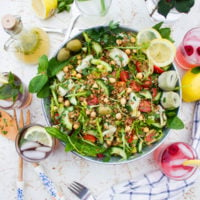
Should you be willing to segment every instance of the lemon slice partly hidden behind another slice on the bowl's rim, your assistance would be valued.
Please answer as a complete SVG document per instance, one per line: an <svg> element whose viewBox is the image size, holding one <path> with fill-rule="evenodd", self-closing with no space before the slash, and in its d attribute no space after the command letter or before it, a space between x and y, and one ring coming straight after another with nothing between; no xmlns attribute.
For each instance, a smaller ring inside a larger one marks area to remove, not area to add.
<svg viewBox="0 0 200 200"><path fill-rule="evenodd" d="M161 38L160 33L153 28L147 28L138 32L136 41L138 45L141 45L157 38Z"/></svg>

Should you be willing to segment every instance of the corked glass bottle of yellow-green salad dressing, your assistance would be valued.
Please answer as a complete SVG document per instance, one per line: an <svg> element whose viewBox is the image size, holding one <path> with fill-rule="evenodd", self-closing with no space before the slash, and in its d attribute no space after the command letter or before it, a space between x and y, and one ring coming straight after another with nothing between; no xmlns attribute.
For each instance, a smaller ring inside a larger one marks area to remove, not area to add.
<svg viewBox="0 0 200 200"><path fill-rule="evenodd" d="M21 18L15 15L5 15L2 18L2 26L11 36L4 49L13 51L19 60L36 64L39 57L48 55L49 37L42 29L24 29Z"/></svg>

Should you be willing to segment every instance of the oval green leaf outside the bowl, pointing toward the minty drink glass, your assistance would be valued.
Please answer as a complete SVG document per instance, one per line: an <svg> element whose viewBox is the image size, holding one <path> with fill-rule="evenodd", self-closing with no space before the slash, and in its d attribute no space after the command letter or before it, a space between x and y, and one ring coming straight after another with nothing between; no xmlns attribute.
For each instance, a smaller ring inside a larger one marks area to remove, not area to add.
<svg viewBox="0 0 200 200"><path fill-rule="evenodd" d="M48 81L46 74L40 74L35 76L29 83L29 92L38 93Z"/></svg>

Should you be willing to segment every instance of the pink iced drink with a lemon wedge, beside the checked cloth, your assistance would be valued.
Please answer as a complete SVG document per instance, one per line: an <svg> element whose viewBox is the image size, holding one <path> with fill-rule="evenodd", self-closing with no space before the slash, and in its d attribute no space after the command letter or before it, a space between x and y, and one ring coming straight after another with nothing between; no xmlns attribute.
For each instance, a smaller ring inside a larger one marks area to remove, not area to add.
<svg viewBox="0 0 200 200"><path fill-rule="evenodd" d="M154 159L162 172L175 180L187 179L195 172L195 167L183 165L185 160L195 158L196 152L184 142L161 146L154 152Z"/></svg>

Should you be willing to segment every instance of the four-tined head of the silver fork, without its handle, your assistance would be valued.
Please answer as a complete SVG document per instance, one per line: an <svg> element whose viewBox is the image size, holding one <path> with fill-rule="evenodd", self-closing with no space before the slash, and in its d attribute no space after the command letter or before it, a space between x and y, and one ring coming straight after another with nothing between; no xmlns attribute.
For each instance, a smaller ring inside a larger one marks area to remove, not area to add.
<svg viewBox="0 0 200 200"><path fill-rule="evenodd" d="M74 181L68 188L80 199L84 198L89 193L89 190L84 185L76 181Z"/></svg>

